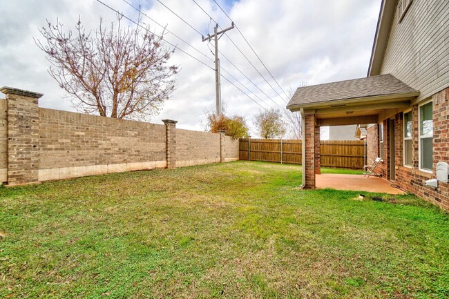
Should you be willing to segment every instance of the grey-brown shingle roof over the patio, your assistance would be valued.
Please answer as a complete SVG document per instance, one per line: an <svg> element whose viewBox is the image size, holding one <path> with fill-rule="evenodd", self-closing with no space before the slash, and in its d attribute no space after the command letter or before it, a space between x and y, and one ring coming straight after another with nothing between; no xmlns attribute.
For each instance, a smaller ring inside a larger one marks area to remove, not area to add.
<svg viewBox="0 0 449 299"><path fill-rule="evenodd" d="M332 102L342 99L418 93L390 74L300 87L287 107Z"/></svg>

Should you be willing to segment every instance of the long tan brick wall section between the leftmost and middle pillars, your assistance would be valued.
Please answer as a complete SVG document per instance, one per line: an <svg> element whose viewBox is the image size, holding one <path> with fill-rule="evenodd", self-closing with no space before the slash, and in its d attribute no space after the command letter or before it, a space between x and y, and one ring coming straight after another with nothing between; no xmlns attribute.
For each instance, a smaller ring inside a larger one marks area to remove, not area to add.
<svg viewBox="0 0 449 299"><path fill-rule="evenodd" d="M164 125L39 108L39 181L166 166Z"/></svg>

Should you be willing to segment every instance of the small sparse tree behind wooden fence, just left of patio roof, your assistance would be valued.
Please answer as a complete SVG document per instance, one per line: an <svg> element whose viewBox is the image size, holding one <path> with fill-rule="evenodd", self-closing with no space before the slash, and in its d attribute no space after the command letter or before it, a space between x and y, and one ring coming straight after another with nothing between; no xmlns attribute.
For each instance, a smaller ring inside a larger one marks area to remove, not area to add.
<svg viewBox="0 0 449 299"><path fill-rule="evenodd" d="M287 131L287 124L283 119L283 115L276 108L259 111L256 115L254 126L260 137L265 139L282 138Z"/></svg>

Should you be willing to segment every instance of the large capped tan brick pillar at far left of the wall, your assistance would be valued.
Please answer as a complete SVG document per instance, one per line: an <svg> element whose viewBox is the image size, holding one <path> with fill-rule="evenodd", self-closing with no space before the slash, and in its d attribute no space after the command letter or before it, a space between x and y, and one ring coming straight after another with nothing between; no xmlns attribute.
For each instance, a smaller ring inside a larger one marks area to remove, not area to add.
<svg viewBox="0 0 449 299"><path fill-rule="evenodd" d="M8 108L8 185L38 182L41 93L2 87Z"/></svg>

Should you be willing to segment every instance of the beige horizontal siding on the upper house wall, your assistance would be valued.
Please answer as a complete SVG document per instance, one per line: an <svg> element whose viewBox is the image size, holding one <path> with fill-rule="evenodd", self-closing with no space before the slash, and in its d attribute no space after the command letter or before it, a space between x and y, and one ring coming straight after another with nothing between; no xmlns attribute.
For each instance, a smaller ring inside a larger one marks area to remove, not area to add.
<svg viewBox="0 0 449 299"><path fill-rule="evenodd" d="M448 0L414 0L401 23L394 14L381 74L419 90L418 101L449 86L448 16Z"/></svg>

